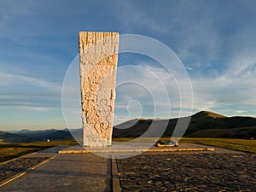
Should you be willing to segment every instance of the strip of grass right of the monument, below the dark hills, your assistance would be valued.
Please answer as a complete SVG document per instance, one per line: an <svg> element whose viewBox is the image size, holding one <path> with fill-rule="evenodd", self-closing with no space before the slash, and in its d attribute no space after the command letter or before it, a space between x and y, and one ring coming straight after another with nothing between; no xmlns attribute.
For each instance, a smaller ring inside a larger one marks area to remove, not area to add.
<svg viewBox="0 0 256 192"><path fill-rule="evenodd" d="M170 137L163 137L160 140L166 141ZM140 143L151 143L154 141L154 138L142 138L139 140ZM127 142L137 143L137 140L132 141L132 138L114 138L115 142ZM256 140L248 139L230 139L230 138L187 138L183 137L179 143L196 143L196 144L205 144L220 148L230 148L244 152L256 153Z"/></svg>

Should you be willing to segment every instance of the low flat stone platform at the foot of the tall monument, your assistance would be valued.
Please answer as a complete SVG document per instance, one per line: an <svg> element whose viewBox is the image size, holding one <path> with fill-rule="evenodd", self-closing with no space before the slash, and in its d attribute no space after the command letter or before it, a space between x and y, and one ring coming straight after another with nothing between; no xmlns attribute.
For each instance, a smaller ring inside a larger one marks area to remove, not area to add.
<svg viewBox="0 0 256 192"><path fill-rule="evenodd" d="M111 147L73 146L59 150L59 154L87 153L143 153L143 152L213 152L215 148L199 144L180 143L178 147L154 147L150 143L114 143Z"/></svg>

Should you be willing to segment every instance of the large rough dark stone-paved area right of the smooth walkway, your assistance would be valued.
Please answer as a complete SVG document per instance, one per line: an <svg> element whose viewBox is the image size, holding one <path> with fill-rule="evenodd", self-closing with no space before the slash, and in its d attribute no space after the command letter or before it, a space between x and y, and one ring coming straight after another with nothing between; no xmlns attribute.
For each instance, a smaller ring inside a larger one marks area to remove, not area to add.
<svg viewBox="0 0 256 192"><path fill-rule="evenodd" d="M122 191L256 190L256 154L142 154L117 165Z"/></svg>

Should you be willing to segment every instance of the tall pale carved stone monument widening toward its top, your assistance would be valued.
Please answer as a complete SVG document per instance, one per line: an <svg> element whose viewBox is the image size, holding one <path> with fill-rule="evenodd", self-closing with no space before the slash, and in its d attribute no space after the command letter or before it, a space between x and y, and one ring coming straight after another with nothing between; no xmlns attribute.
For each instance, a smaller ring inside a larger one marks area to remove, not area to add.
<svg viewBox="0 0 256 192"><path fill-rule="evenodd" d="M118 32L79 32L84 146L112 143Z"/></svg>

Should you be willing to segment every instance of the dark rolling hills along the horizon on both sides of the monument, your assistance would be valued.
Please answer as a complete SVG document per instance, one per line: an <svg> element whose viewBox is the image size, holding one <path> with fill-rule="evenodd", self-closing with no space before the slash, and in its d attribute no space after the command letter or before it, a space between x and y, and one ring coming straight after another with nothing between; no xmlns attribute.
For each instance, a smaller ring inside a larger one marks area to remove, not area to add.
<svg viewBox="0 0 256 192"><path fill-rule="evenodd" d="M181 119L186 119L183 117ZM131 119L113 127L113 137L171 137L178 119ZM83 130L0 131L1 143L22 143L50 140L82 139ZM173 136L175 137L175 135ZM256 138L256 118L226 117L218 113L201 111L191 116L183 137Z"/></svg>

